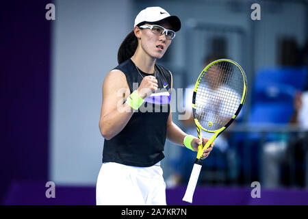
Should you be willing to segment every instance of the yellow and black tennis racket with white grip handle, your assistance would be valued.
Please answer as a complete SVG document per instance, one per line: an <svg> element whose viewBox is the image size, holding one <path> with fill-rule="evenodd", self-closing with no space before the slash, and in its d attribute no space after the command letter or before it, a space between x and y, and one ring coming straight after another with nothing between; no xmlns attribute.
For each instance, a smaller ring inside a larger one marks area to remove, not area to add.
<svg viewBox="0 0 308 219"><path fill-rule="evenodd" d="M233 60L216 60L207 65L199 75L192 96L192 114L198 138L203 142L201 129L214 133L198 152L183 201L192 203L200 175L203 151L231 125L240 113L246 97L246 75Z"/></svg>

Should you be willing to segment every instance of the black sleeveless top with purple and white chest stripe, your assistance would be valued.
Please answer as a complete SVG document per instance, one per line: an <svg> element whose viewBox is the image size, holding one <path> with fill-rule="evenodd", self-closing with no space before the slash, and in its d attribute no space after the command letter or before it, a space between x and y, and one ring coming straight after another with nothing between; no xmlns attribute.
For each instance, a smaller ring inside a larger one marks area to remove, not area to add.
<svg viewBox="0 0 308 219"><path fill-rule="evenodd" d="M125 74L131 93L138 89L142 77L149 75L140 69L138 73L131 59L114 69ZM158 81L157 91L144 99L144 103L133 113L120 133L111 140L105 139L103 162L146 167L153 166L164 158L167 120L170 112L171 73L166 68L155 64L155 77Z"/></svg>

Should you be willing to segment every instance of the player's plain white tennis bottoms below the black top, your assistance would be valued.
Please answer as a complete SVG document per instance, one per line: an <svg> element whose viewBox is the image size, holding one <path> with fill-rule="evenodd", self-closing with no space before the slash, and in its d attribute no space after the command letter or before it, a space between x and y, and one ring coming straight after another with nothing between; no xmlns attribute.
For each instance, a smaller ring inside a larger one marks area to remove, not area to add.
<svg viewBox="0 0 308 219"><path fill-rule="evenodd" d="M97 205L166 205L160 162L150 167L103 163L97 177Z"/></svg>

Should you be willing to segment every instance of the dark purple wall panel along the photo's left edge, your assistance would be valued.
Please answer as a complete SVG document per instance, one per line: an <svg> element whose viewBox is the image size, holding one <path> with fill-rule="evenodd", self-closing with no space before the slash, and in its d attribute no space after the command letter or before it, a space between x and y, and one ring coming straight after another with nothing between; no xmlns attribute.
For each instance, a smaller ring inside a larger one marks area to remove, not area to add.
<svg viewBox="0 0 308 219"><path fill-rule="evenodd" d="M1 3L0 200L14 181L47 181L51 1Z"/></svg>

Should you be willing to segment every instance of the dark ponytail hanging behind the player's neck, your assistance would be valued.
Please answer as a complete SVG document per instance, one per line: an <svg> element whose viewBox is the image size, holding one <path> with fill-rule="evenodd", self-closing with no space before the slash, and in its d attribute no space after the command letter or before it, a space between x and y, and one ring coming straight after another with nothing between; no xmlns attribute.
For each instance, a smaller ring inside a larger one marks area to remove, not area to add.
<svg viewBox="0 0 308 219"><path fill-rule="evenodd" d="M122 44L118 48L118 64L125 62L135 53L138 46L138 39L136 38L133 31L131 31Z"/></svg>

